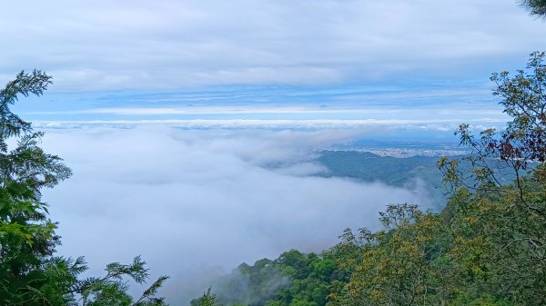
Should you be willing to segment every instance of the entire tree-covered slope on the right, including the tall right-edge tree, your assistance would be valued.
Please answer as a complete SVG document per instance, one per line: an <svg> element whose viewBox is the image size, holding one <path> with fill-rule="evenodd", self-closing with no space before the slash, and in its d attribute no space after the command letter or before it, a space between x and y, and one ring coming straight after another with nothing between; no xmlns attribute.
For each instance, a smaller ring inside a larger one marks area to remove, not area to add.
<svg viewBox="0 0 546 306"><path fill-rule="evenodd" d="M531 54L514 76L492 75L512 121L478 136L460 126L470 154L438 162L452 187L441 212L389 205L377 232L346 230L320 256L264 260L291 281L253 305L546 305L545 56ZM499 179L507 175L512 183Z"/></svg>

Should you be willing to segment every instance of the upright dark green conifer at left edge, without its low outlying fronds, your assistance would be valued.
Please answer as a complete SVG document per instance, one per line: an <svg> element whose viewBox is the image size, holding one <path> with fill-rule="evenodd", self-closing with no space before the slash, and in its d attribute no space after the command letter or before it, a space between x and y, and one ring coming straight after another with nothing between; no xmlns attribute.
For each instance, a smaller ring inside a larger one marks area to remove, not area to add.
<svg viewBox="0 0 546 306"><path fill-rule="evenodd" d="M22 72L0 91L0 301L11 304L57 300L49 294L51 286L40 291L53 276L48 273L51 268L60 266L58 259L45 262L58 237L40 190L71 173L59 157L37 146L42 133L35 133L10 110L18 94L40 95L48 84L51 77L42 72ZM15 148L10 149L8 142L13 140Z"/></svg>

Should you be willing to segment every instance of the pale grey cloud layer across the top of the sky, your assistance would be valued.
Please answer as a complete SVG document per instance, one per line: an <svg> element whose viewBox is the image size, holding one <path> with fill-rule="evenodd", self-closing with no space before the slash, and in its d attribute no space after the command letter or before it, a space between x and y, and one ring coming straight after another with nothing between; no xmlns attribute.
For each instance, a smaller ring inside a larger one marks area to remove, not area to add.
<svg viewBox="0 0 546 306"><path fill-rule="evenodd" d="M513 0L18 1L0 25L0 79L72 91L487 75L546 35Z"/></svg>

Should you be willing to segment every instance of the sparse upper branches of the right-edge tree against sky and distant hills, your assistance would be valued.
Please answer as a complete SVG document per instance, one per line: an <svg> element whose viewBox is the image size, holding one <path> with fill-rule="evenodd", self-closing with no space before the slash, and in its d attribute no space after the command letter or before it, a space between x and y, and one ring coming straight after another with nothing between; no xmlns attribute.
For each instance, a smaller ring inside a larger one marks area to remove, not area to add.
<svg viewBox="0 0 546 306"><path fill-rule="evenodd" d="M468 124L461 124L456 134L460 135L460 143L471 150L464 159L471 164L471 172L462 172L459 161L444 158L439 166L447 183L455 188L501 192L500 173L513 173L515 183L520 184L530 165L546 160L545 56L532 53L527 70L519 70L514 76L508 72L492 74L491 81L497 85L493 95L502 99L504 113L513 120L503 131L488 129L479 137L470 132ZM474 183L465 183L465 175Z"/></svg>

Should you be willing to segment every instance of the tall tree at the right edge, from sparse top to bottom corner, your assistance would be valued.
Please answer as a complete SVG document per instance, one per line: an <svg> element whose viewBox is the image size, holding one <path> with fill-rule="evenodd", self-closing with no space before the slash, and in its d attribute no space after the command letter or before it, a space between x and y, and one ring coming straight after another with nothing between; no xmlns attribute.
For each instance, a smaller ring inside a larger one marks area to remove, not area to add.
<svg viewBox="0 0 546 306"><path fill-rule="evenodd" d="M485 283L491 294L521 305L546 304L546 65L535 52L526 70L492 74L504 112L505 129L474 136L460 126L460 143L470 149L471 185L463 183L458 161L440 160L445 180L454 186L454 230L458 260ZM501 184L491 163L515 173Z"/></svg>

